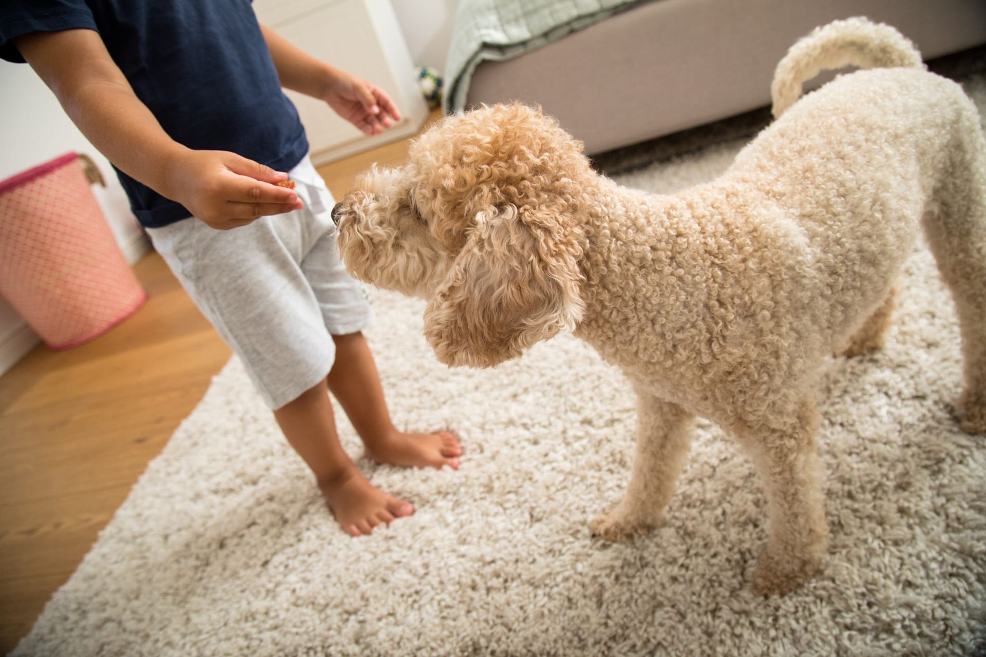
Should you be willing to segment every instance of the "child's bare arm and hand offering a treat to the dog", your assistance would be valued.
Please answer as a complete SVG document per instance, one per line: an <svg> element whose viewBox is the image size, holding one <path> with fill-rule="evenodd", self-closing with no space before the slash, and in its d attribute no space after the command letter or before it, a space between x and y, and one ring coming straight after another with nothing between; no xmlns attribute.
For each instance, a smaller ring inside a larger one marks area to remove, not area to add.
<svg viewBox="0 0 986 657"><path fill-rule="evenodd" d="M169 137L133 93L99 33L30 33L15 44L111 163L212 228L232 229L301 207L293 190L274 184L286 174L225 151L193 151Z"/></svg>

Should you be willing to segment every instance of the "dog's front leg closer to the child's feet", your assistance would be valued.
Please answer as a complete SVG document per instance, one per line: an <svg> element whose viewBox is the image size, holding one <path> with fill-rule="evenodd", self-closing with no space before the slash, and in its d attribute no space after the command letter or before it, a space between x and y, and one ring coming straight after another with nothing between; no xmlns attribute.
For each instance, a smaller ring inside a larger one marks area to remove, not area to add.
<svg viewBox="0 0 986 657"><path fill-rule="evenodd" d="M593 533L622 541L661 524L688 445L694 416L676 404L637 390L637 453L626 495L597 518Z"/></svg>

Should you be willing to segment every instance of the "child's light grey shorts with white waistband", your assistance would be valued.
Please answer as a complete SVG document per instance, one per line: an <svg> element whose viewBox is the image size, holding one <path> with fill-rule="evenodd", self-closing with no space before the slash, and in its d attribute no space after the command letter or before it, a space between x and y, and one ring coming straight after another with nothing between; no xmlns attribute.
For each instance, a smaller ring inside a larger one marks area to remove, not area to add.
<svg viewBox="0 0 986 657"><path fill-rule="evenodd" d="M233 230L192 218L147 230L272 409L325 377L332 335L362 331L372 318L366 291L335 246L331 193L308 158L290 177L301 210Z"/></svg>

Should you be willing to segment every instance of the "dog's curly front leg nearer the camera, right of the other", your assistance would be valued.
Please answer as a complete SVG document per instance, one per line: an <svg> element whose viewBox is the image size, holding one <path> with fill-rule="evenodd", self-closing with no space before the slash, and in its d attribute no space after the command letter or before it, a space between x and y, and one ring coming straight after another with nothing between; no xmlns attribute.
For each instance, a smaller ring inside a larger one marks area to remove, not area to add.
<svg viewBox="0 0 986 657"><path fill-rule="evenodd" d="M731 427L767 495L767 545L753 572L753 590L783 595L821 565L828 528L814 433L818 411L810 393L768 409L768 420Z"/></svg>

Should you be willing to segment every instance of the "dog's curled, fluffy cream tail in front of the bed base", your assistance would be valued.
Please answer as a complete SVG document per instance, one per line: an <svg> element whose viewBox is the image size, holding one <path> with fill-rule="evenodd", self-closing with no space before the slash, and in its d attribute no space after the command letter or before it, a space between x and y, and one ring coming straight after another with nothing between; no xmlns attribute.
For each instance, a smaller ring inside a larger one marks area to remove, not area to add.
<svg viewBox="0 0 986 657"><path fill-rule="evenodd" d="M925 68L921 53L903 34L865 18L834 21L799 39L774 71L774 118L802 95L802 86L825 69Z"/></svg>

